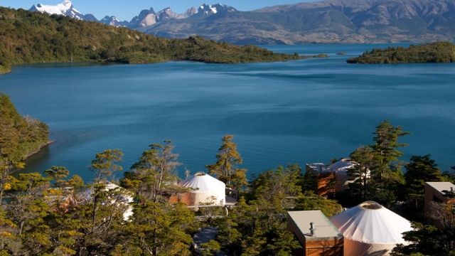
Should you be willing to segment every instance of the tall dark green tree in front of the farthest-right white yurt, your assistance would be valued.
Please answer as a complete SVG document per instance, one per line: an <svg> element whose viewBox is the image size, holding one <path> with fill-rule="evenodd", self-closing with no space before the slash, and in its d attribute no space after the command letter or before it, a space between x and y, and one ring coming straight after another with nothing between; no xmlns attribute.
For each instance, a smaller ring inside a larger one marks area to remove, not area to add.
<svg viewBox="0 0 455 256"><path fill-rule="evenodd" d="M398 139L410 132L403 132L401 126L395 127L390 124L390 120L385 120L376 127L373 134L375 144L361 146L350 154L350 158L358 164L348 170L353 183L348 191L338 195L343 203L349 201L349 206L351 203L371 200L390 207L397 201L400 188L405 182L401 171L402 162L398 161L398 157L404 153L397 148L407 146L398 143Z"/></svg>

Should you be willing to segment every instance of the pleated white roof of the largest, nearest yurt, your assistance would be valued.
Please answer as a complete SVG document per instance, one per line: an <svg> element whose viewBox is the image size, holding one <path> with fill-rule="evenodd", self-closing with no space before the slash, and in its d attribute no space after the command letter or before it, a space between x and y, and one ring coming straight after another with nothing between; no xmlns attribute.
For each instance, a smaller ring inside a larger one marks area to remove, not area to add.
<svg viewBox="0 0 455 256"><path fill-rule="evenodd" d="M365 243L406 244L402 233L412 230L409 220L373 201L360 203L330 220L346 239Z"/></svg>

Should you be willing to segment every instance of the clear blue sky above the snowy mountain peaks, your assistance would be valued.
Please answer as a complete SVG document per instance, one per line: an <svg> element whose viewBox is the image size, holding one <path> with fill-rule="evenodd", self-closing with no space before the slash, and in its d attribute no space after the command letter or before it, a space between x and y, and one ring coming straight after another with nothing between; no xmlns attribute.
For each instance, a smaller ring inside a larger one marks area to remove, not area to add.
<svg viewBox="0 0 455 256"><path fill-rule="evenodd" d="M200 4L226 4L239 11L252 11L261 9L265 6L275 6L278 4L296 4L309 0L167 0L167 1L144 1L144 0L70 0L77 11L82 14L93 14L97 19L104 16L116 16L120 20L130 21L137 16L143 9L153 7L155 11L161 11L166 7L171 7L172 11L183 14L186 9L200 6ZM30 9L33 4L57 5L63 0L0 0L0 6L11 7L14 9Z"/></svg>

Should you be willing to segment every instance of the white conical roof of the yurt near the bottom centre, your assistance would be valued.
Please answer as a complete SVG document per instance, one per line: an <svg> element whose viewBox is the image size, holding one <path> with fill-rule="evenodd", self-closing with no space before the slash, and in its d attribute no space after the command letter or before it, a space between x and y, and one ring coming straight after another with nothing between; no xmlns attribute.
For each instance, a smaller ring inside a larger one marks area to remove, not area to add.
<svg viewBox="0 0 455 256"><path fill-rule="evenodd" d="M205 172L200 171L193 176L186 178L186 180L178 183L178 186L184 186L186 188L194 188L195 192L204 192L204 191L218 191L222 189L223 191L226 188L223 181L218 181L218 179L213 178L212 176L205 174Z"/></svg>

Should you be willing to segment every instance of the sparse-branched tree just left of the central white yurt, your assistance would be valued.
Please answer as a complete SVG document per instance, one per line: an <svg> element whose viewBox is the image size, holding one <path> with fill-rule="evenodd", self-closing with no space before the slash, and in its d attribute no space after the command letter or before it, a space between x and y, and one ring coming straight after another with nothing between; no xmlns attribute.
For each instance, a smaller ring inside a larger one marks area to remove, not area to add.
<svg viewBox="0 0 455 256"><path fill-rule="evenodd" d="M158 202L162 201L164 190L177 190L173 183L178 180L175 170L181 163L177 161L178 154L172 152L171 141L164 145L151 144L150 149L142 153L139 161L131 167L133 172L125 173L122 184L134 188L139 195Z"/></svg>

